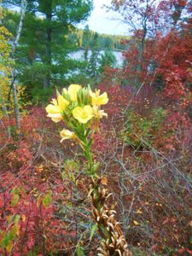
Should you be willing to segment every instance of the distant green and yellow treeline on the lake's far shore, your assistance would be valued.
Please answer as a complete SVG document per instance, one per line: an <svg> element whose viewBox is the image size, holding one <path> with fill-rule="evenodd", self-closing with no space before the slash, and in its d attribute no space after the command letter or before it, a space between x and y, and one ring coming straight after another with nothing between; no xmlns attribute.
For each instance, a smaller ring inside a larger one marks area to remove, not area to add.
<svg viewBox="0 0 192 256"><path fill-rule="evenodd" d="M125 44L121 44L122 41L129 39L122 35L108 35L99 34L91 31L89 26L85 26L84 29L73 28L68 33L68 41L71 44L76 44L81 49L116 49L124 50Z"/></svg>

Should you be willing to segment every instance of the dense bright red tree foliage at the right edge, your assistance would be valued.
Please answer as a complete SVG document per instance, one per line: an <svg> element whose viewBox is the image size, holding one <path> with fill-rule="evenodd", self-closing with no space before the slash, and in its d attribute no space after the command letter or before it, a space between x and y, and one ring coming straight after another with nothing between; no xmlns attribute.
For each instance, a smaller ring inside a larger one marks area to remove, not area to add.
<svg viewBox="0 0 192 256"><path fill-rule="evenodd" d="M180 26L181 31L174 30L165 37L158 38L154 62L157 67L156 74L162 79L161 83L164 85L166 97L182 102L182 105L184 102L183 108L185 108L189 104L186 98L190 97L189 87L192 84L192 19L187 19ZM165 51L166 54L162 57Z"/></svg>

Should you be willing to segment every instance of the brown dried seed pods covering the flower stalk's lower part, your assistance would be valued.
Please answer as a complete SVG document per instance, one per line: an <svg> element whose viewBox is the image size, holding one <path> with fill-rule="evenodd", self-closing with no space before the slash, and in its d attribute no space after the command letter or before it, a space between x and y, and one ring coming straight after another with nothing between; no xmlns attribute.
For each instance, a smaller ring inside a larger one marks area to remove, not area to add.
<svg viewBox="0 0 192 256"><path fill-rule="evenodd" d="M103 240L98 247L98 256L131 256L125 236L115 219L116 212L108 206L110 195L108 189L101 183L102 178L90 184L90 198L92 201L92 215Z"/></svg>

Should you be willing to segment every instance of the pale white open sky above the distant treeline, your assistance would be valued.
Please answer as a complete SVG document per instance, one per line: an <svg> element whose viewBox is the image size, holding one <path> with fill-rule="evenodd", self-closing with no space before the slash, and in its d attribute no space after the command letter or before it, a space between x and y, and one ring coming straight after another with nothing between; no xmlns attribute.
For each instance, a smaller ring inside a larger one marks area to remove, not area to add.
<svg viewBox="0 0 192 256"><path fill-rule="evenodd" d="M90 18L80 27L83 28L86 24L90 26L90 30L99 33L113 34L113 35L128 35L126 26L115 19L117 16L112 12L106 12L102 8L103 4L110 5L111 0L94 0L94 9L91 12Z"/></svg>

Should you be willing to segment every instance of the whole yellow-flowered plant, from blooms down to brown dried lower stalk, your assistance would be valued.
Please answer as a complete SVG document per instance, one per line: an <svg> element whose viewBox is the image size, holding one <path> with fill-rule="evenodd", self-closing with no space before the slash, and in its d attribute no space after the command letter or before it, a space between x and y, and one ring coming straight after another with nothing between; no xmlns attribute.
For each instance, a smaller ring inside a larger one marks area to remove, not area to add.
<svg viewBox="0 0 192 256"><path fill-rule="evenodd" d="M61 143L72 139L83 149L86 159L85 175L90 177L90 201L93 207L93 219L96 222L93 230L102 236L98 247L99 256L131 255L119 223L115 220L116 212L108 206L107 183L97 174L99 163L94 162L91 145L94 133L99 129L100 120L108 117L101 107L108 103L108 94L93 92L90 87L71 84L57 93L45 109L48 117L55 123L63 121L65 128L60 131ZM92 233L92 230L91 230Z"/></svg>

